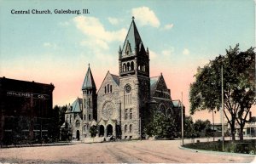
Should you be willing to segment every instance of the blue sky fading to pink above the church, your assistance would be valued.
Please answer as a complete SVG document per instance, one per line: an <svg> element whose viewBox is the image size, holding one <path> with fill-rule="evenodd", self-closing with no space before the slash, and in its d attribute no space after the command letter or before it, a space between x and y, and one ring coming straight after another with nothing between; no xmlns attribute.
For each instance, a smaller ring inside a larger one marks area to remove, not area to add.
<svg viewBox="0 0 256 164"><path fill-rule="evenodd" d="M55 14L61 9L89 14ZM27 10L30 14L12 14ZM149 49L150 76L163 74L172 99L183 93L188 116L189 84L197 68L237 43L241 51L255 47L253 0L0 0L0 76L52 82L54 105L72 104L81 97L89 63L97 89L108 71L119 74L119 46L132 16ZM202 111L193 118L212 121L212 114Z"/></svg>

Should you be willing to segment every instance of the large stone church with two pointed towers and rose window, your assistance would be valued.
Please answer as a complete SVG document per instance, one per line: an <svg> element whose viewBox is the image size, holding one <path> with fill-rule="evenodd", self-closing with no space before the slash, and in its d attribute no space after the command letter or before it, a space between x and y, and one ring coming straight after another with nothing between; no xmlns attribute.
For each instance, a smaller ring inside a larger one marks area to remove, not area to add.
<svg viewBox="0 0 256 164"><path fill-rule="evenodd" d="M119 75L108 71L97 91L89 65L82 93L83 97L69 105L65 114L73 139L91 137L92 126L97 127L98 137L140 139L145 136L142 132L150 110L181 119L181 103L172 100L164 76L149 76L148 48L143 45L134 18L123 47L119 47Z"/></svg>

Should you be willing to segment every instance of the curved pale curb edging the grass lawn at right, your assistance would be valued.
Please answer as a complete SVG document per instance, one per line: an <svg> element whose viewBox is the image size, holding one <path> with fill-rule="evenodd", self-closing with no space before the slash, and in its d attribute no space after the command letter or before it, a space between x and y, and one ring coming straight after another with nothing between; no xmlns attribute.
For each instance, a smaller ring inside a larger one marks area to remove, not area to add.
<svg viewBox="0 0 256 164"><path fill-rule="evenodd" d="M198 153L207 153L213 155L224 155L224 156L247 156L247 157L256 157L255 155L241 154L241 153L229 153L229 152L220 152L220 151L211 151L211 150L195 150L191 148L185 148L183 146L178 146L181 150L189 150Z"/></svg>

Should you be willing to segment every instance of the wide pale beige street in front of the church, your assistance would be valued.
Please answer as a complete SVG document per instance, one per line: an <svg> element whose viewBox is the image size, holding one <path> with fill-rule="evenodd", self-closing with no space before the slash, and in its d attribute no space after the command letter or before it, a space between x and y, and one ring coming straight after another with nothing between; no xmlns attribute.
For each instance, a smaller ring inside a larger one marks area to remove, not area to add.
<svg viewBox="0 0 256 164"><path fill-rule="evenodd" d="M253 156L230 156L179 148L179 140L127 141L0 149L0 162L49 163L247 163Z"/></svg>

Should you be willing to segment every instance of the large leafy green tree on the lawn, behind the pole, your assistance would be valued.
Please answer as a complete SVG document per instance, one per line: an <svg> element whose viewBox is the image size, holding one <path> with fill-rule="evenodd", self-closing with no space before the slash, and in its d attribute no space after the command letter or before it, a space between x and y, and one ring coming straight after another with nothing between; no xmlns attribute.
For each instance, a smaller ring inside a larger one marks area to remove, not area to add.
<svg viewBox="0 0 256 164"><path fill-rule="evenodd" d="M197 110L220 110L221 67L224 74L224 116L230 124L232 139L235 140L235 123L241 131L251 106L255 104L255 53L254 48L240 52L236 48L226 50L203 68L198 68L195 82L190 84L190 113ZM242 139L242 133L240 136Z"/></svg>

